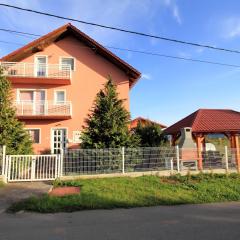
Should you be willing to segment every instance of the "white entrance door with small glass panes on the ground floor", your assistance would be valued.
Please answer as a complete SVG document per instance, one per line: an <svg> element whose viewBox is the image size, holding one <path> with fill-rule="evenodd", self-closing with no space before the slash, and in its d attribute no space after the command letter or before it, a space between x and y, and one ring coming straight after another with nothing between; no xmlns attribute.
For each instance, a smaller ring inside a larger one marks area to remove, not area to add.
<svg viewBox="0 0 240 240"><path fill-rule="evenodd" d="M59 154L67 146L67 130L55 128L52 130L52 153Z"/></svg>

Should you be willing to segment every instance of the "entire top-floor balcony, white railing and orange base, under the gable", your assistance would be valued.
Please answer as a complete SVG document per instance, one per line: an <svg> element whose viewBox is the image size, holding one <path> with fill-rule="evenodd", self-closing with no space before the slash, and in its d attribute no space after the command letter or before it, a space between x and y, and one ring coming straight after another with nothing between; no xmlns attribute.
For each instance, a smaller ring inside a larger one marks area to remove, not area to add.
<svg viewBox="0 0 240 240"><path fill-rule="evenodd" d="M12 83L71 84L72 70L68 64L0 62L0 66Z"/></svg>

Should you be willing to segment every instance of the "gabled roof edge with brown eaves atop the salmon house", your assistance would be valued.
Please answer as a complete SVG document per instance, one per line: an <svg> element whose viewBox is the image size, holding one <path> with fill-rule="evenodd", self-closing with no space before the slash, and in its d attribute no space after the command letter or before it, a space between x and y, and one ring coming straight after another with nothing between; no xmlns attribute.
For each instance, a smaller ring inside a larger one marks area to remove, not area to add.
<svg viewBox="0 0 240 240"><path fill-rule="evenodd" d="M141 73L129 65L127 62L116 56L114 53L103 47L100 43L89 37L87 34L80 31L78 28L73 26L71 23L63 25L60 28L30 42L29 44L11 52L10 54L0 58L0 61L17 62L25 57L33 54L34 52L41 51L46 46L50 45L54 41L62 39L67 34L74 35L77 39L89 46L93 51L106 58L122 71L124 71L130 78L130 87L132 87L137 80L141 77Z"/></svg>

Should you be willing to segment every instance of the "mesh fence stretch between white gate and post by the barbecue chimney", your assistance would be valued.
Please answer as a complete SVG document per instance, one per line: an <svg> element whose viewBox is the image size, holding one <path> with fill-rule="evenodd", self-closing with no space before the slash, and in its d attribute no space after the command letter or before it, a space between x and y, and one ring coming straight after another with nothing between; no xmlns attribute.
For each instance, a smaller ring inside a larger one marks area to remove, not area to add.
<svg viewBox="0 0 240 240"><path fill-rule="evenodd" d="M64 152L63 175L171 170L174 162L175 148L73 149Z"/></svg>

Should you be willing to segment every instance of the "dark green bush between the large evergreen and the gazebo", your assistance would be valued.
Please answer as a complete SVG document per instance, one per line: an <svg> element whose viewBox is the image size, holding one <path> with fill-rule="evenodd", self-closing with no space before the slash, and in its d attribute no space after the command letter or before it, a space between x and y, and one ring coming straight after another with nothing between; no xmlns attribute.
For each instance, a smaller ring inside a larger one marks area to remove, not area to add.
<svg viewBox="0 0 240 240"><path fill-rule="evenodd" d="M133 131L140 138L140 145L142 147L159 147L166 142L162 135L161 127L156 123L142 125L139 122Z"/></svg>

